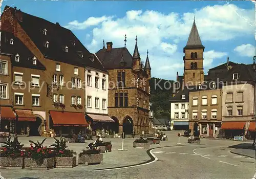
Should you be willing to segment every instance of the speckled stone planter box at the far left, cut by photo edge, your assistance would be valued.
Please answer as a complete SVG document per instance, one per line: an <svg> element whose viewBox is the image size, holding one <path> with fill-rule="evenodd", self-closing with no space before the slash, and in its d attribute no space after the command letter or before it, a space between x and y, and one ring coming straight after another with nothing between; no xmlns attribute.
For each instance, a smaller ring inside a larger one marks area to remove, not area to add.
<svg viewBox="0 0 256 179"><path fill-rule="evenodd" d="M24 158L0 158L0 168L4 169L22 169Z"/></svg>

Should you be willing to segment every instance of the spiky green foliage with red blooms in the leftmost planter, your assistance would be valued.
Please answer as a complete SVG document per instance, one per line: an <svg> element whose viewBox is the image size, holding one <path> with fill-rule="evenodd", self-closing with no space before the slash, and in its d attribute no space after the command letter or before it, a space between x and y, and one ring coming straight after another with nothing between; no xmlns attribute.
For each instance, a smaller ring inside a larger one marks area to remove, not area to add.
<svg viewBox="0 0 256 179"><path fill-rule="evenodd" d="M22 151L23 144L20 145L20 142L18 142L18 137L15 137L13 141L11 141L11 137L9 136L5 142L1 142L5 144L4 150L1 151L2 157L11 157L11 158L17 158L17 157L23 157L24 151Z"/></svg>

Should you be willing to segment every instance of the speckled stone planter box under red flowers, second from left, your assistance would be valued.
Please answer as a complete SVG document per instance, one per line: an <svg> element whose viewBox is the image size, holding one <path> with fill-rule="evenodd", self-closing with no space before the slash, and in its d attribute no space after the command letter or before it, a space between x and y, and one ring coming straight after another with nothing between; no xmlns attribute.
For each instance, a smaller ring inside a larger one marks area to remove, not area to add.
<svg viewBox="0 0 256 179"><path fill-rule="evenodd" d="M31 158L24 159L24 166L27 169L49 170L54 168L54 165L55 165L55 158L44 159L44 161L40 165L37 165L34 159L31 159Z"/></svg>

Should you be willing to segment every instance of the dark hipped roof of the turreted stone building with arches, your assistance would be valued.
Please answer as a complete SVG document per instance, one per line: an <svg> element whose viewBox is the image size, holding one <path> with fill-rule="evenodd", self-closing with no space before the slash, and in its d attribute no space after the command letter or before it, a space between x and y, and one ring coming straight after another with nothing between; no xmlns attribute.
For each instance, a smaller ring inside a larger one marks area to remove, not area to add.
<svg viewBox="0 0 256 179"><path fill-rule="evenodd" d="M133 59L130 52L123 48L112 48L110 51L106 49L100 49L96 55L103 64L105 69L122 69L122 68L132 68ZM124 66L121 66L121 61L124 61Z"/></svg>

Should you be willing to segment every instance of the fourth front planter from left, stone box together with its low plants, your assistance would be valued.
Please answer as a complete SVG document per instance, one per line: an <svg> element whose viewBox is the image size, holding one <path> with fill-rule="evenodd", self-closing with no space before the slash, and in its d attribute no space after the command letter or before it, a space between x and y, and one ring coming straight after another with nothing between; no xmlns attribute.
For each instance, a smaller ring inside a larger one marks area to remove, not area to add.
<svg viewBox="0 0 256 179"><path fill-rule="evenodd" d="M78 164L103 164L103 154L99 150L83 150L79 153Z"/></svg>

